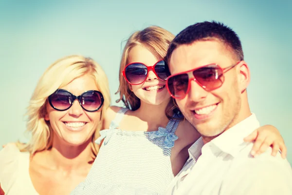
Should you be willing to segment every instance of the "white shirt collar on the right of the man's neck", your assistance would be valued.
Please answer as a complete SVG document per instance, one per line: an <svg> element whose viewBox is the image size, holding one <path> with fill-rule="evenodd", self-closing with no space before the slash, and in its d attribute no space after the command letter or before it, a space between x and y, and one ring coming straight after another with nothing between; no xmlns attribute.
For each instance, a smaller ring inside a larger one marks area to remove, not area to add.
<svg viewBox="0 0 292 195"><path fill-rule="evenodd" d="M243 138L247 137L258 127L260 127L260 125L256 115L252 114L218 137L212 139L209 144L213 144L222 152L235 157L238 152L248 144L243 141Z"/></svg>

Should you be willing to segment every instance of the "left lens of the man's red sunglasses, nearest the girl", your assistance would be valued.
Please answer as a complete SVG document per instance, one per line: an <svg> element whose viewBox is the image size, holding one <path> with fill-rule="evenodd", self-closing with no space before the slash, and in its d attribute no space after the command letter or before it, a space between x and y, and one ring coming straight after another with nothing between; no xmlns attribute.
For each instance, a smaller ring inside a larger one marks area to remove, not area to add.
<svg viewBox="0 0 292 195"><path fill-rule="evenodd" d="M188 75L181 74L168 78L167 86L174 98L183 98L188 87Z"/></svg>

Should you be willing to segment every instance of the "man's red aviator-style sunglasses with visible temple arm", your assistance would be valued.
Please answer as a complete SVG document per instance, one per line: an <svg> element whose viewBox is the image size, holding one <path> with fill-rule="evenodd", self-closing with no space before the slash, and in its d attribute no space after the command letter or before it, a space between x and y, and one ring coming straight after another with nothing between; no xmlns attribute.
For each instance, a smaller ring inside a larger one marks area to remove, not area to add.
<svg viewBox="0 0 292 195"><path fill-rule="evenodd" d="M189 93L192 80L196 81L206 90L217 89L221 87L224 82L223 74L228 70L231 70L237 64L226 68L221 68L218 64L208 64L189 71L171 75L166 80L167 91L172 98L185 98Z"/></svg>

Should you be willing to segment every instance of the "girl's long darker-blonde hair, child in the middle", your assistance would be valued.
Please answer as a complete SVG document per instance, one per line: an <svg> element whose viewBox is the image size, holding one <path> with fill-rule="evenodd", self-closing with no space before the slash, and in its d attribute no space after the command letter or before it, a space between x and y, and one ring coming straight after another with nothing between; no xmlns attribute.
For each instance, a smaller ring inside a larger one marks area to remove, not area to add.
<svg viewBox="0 0 292 195"><path fill-rule="evenodd" d="M140 99L129 89L128 83L122 75L125 66L128 64L128 54L130 49L136 45L142 44L143 46L146 46L156 58L164 59L172 39L174 39L174 35L159 26L150 26L141 31L136 31L129 37L124 47L120 63L120 86L116 92L116 94L120 94L120 98L116 100L117 103L122 100L126 107L133 111L137 110L141 104ZM171 118L173 112L178 111L178 108L175 106L174 101L171 98L165 110L166 116Z"/></svg>

